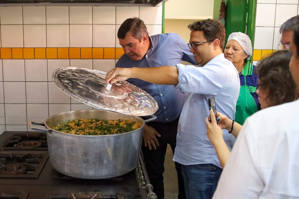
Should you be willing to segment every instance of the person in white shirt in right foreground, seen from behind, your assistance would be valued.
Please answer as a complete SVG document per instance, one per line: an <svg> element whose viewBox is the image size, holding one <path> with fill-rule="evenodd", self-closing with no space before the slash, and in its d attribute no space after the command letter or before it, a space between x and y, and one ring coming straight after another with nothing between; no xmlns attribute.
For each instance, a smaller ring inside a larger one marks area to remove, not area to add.
<svg viewBox="0 0 299 199"><path fill-rule="evenodd" d="M299 88L299 23L289 69ZM214 199L299 198L299 100L248 117L223 169Z"/></svg>

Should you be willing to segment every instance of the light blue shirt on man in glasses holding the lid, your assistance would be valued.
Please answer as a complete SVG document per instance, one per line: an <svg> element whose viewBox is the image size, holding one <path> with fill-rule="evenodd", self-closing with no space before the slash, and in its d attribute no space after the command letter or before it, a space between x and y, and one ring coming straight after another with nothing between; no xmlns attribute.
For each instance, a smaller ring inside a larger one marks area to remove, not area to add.
<svg viewBox="0 0 299 199"><path fill-rule="evenodd" d="M203 67L177 64L181 92L187 93L181 112L173 160L183 165L212 163L221 168L215 148L208 139L205 118L210 114L208 98L214 96L216 109L234 119L240 80L234 65L223 53ZM223 130L229 150L236 138Z"/></svg>

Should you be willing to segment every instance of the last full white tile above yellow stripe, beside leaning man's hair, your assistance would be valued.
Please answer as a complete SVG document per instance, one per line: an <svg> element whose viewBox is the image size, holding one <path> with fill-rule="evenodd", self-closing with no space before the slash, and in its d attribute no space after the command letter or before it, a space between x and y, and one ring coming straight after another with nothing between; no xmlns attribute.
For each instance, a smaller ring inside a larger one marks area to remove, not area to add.
<svg viewBox="0 0 299 199"><path fill-rule="evenodd" d="M93 25L93 47L115 47L115 25Z"/></svg>

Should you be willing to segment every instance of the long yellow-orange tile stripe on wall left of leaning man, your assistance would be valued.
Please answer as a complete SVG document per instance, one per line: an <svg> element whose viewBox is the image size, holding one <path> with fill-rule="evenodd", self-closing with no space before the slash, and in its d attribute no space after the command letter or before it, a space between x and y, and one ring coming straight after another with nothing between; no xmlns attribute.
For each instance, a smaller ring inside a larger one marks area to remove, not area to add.
<svg viewBox="0 0 299 199"><path fill-rule="evenodd" d="M119 59L122 48L0 48L0 59Z"/></svg>

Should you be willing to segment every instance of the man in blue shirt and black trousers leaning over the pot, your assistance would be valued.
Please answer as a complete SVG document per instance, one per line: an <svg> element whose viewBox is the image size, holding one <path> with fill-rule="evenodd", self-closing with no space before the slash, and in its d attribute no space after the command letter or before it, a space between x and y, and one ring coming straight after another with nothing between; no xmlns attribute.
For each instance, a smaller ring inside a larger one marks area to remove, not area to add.
<svg viewBox="0 0 299 199"><path fill-rule="evenodd" d="M152 68L156 66L181 63L181 60L195 64L193 54L179 35L174 33L148 35L147 27L138 18L126 19L118 29L118 39L125 54L120 57L116 67ZM146 91L158 102L157 120L144 125L142 152L149 173L153 191L158 199L164 198L164 158L167 144L173 153L176 147L176 135L179 116L184 104L185 94L172 85L156 85L140 79L128 79L128 82ZM178 174L179 196L185 198L181 165L175 162Z"/></svg>

